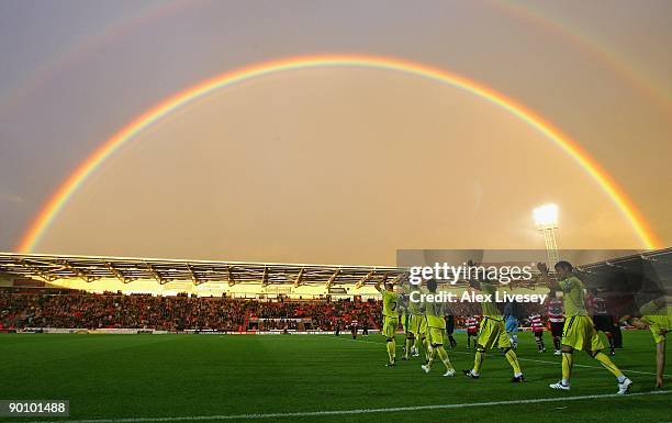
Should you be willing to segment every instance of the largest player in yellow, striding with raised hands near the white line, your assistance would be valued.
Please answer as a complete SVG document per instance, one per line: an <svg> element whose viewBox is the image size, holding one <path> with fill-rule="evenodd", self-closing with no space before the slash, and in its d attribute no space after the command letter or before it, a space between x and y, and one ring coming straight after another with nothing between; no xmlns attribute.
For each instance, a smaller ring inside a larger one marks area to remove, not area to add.
<svg viewBox="0 0 672 423"><path fill-rule="evenodd" d="M604 345L593 326L593 321L585 310L583 298L583 282L573 274L573 266L569 261L558 261L556 274L558 280L550 279L548 267L545 263L537 264L545 279L552 291L562 291L562 302L564 304L564 329L562 331L562 379L557 383L551 383L550 388L570 390L570 378L572 365L574 363L574 349L585 350L591 357L600 361L604 368L609 370L618 382L618 392L626 394L630 391L632 381L602 353Z"/></svg>

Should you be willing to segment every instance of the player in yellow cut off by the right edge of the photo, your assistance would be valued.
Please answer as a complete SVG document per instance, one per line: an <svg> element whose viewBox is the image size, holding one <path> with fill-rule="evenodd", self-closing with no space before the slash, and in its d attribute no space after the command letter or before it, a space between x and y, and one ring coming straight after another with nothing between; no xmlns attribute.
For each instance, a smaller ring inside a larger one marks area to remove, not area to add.
<svg viewBox="0 0 672 423"><path fill-rule="evenodd" d="M664 297L648 302L641 308L641 318L634 319L632 325L646 329L649 325L656 343L656 388L663 387L665 371L665 336L672 331L672 305L665 305ZM627 320L624 316L623 320Z"/></svg>

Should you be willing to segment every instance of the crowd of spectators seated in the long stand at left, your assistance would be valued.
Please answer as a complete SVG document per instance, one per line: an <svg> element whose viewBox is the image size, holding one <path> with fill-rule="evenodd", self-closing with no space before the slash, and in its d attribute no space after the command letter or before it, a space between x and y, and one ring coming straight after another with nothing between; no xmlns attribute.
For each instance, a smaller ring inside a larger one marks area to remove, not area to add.
<svg viewBox="0 0 672 423"><path fill-rule="evenodd" d="M358 320L369 327L381 321L379 301L261 302L213 297L103 294L86 291L67 294L0 292L0 327L132 327L183 330L323 330L339 321Z"/></svg>

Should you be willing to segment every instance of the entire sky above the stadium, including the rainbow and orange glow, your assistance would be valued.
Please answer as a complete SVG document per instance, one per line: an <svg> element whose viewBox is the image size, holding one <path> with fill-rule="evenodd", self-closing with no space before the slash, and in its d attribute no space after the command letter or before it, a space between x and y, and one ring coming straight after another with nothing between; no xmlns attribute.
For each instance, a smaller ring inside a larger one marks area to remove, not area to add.
<svg viewBox="0 0 672 423"><path fill-rule="evenodd" d="M0 0L0 251L393 264L542 247L546 202L563 248L670 245L671 16L664 0Z"/></svg>

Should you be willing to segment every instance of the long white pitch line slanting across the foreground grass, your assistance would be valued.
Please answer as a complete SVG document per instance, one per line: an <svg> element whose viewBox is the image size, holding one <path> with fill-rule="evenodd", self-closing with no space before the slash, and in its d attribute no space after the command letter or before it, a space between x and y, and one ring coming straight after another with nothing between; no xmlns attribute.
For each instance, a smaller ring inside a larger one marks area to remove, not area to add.
<svg viewBox="0 0 672 423"><path fill-rule="evenodd" d="M389 412L400 412L400 411L466 409L466 408L492 407L492 405L535 404L535 403L540 403L540 402L581 401L581 400L596 400L596 399L603 399L603 398L628 398L628 397L639 397L639 396L658 396L658 394L667 394L667 393L672 393L672 391L637 392L637 393L630 393L628 396L621 396L618 393L603 393L603 394L596 394L596 396L535 398L535 399L529 399L529 400L470 402L470 403L461 403L461 404L393 407L393 408L387 408L387 409L302 411L302 412L294 412L294 413L267 413L267 414L190 415L190 416L173 416L173 418L63 420L63 421L55 421L55 422L37 421L37 422L31 422L31 423L143 423L143 422L180 422L180 421L201 421L201 420L258 420L258 419L281 419L281 418L311 418L311 416L329 416L329 415L347 415L347 414L389 413Z"/></svg>

